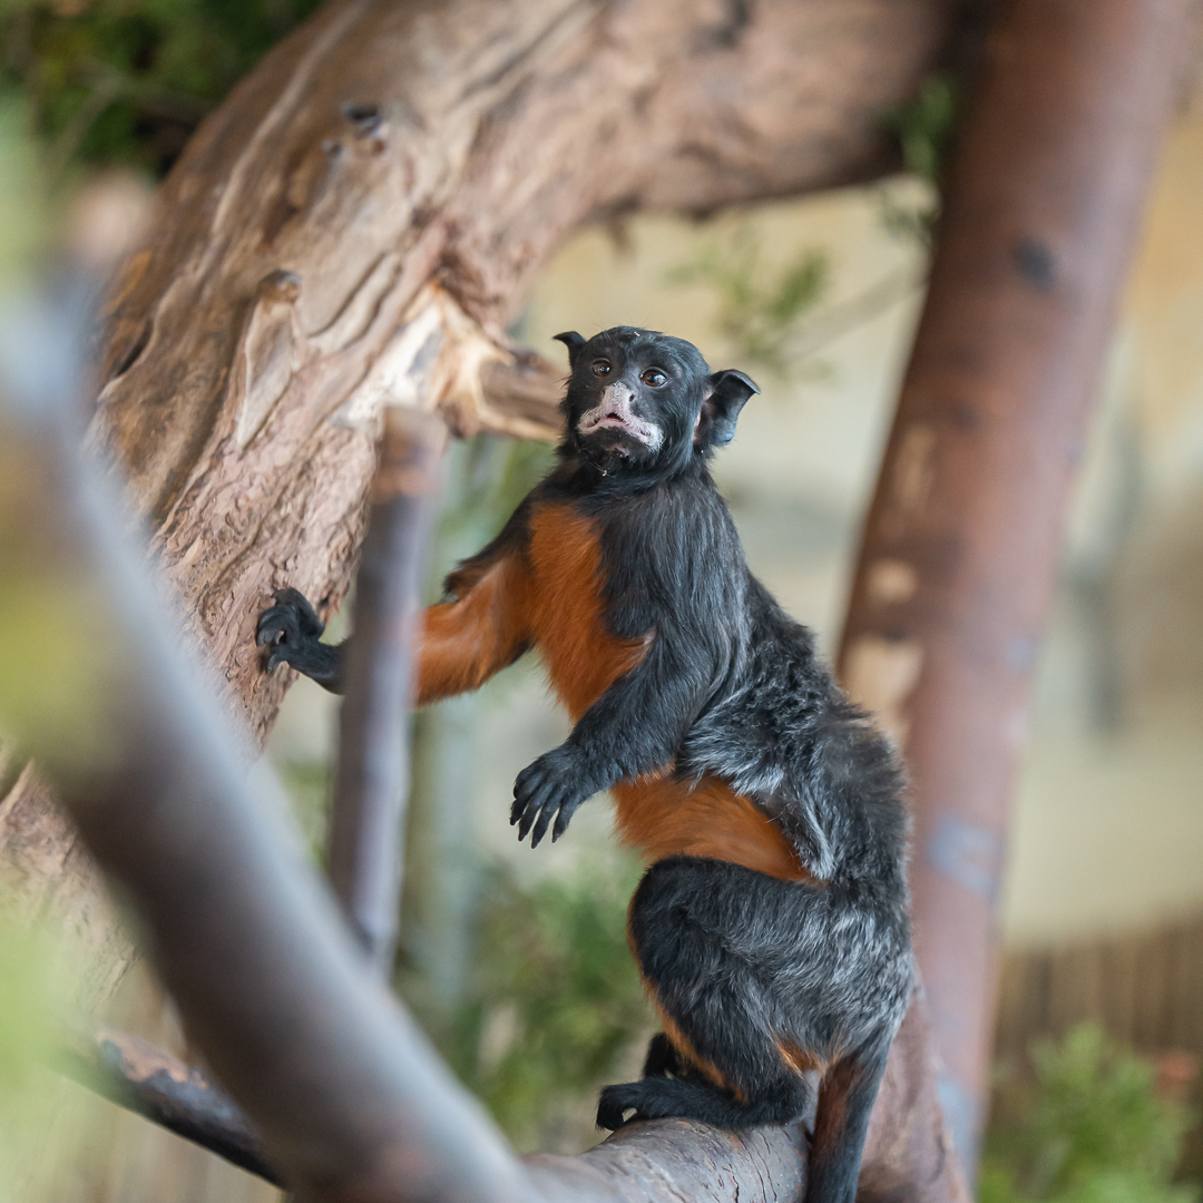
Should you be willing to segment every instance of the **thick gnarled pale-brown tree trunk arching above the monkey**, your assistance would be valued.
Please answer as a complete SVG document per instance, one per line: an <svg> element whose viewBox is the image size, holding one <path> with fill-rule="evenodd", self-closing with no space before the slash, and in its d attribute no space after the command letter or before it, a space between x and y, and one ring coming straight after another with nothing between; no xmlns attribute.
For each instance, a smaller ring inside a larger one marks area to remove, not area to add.
<svg viewBox="0 0 1203 1203"><path fill-rule="evenodd" d="M125 478L248 736L255 615L346 589L384 401L552 437L558 373L500 333L588 221L706 213L865 179L882 114L959 0L340 0L277 47L161 189L105 316L90 440ZM0 774L0 787L14 774ZM107 903L25 774L0 796L5 891L55 902L119 974Z"/></svg>

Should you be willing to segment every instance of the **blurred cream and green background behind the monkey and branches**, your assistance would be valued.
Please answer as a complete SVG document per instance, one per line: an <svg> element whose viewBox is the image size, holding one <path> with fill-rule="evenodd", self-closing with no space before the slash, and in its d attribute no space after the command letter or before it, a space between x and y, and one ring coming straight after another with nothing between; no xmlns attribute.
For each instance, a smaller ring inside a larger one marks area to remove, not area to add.
<svg viewBox="0 0 1203 1203"><path fill-rule="evenodd" d="M114 171L149 189L201 117L314 7L4 0L6 164L36 153L55 195ZM716 475L753 570L828 653L923 298L958 100L934 78L894 115L909 171L885 184L581 235L511 331L559 362L559 331L648 326L760 384ZM982 1192L1000 1203L1187 1201L1203 1179L1193 1110L1203 1055L1201 196L1203 81L1178 114L1148 207L1032 707L998 912L998 1078ZM452 449L431 599L549 463L533 444ZM332 624L331 638L344 633ZM315 857L336 704L300 682L266 757ZM432 1038L518 1148L552 1151L597 1139L597 1086L635 1073L652 1031L624 942L639 866L612 840L609 802L591 802L568 840L535 852L508 824L514 777L565 733L527 660L415 718L397 966ZM7 955L0 947L0 962ZM22 1048L34 1037L18 1013L36 997L5 1001L2 982L35 979L53 960L23 947L11 955L18 970L0 965L0 1033L17 1035L11 1054L0 1039L0 1116L32 1097ZM183 1049L148 972L126 979L113 1014ZM23 1189L35 1196L274 1193L78 1088L43 1085L58 1119L29 1138L41 1151Z"/></svg>

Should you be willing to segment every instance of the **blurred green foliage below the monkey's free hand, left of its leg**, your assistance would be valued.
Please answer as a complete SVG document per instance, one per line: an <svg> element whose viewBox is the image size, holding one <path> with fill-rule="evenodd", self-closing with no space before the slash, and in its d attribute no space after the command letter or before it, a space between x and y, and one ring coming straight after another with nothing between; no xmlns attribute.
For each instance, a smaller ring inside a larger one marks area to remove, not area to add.
<svg viewBox="0 0 1203 1203"><path fill-rule="evenodd" d="M450 1018L403 990L467 1086L520 1145L608 1079L652 1023L627 948L633 866L523 890L486 877L469 997Z"/></svg>

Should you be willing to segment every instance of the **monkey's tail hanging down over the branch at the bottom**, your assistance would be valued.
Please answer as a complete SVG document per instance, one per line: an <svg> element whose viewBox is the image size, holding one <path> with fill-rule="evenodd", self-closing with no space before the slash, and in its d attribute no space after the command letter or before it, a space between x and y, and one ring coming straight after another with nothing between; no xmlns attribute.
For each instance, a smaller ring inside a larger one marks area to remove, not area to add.
<svg viewBox="0 0 1203 1203"><path fill-rule="evenodd" d="M860 1155L889 1041L836 1061L823 1075L806 1183L806 1203L854 1203Z"/></svg>

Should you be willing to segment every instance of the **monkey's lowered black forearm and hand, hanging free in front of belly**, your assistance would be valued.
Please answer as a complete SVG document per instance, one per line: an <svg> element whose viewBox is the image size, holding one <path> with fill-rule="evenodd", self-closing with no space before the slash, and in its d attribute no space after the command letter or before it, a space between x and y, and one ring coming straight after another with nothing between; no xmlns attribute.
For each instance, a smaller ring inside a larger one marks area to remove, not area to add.
<svg viewBox="0 0 1203 1203"><path fill-rule="evenodd" d="M672 761L689 724L713 688L711 658L680 651L658 633L635 668L618 677L581 716L571 735L518 774L510 824L535 847L555 817L552 840L568 830L581 802L620 781Z"/></svg>

